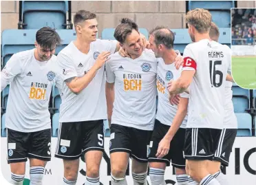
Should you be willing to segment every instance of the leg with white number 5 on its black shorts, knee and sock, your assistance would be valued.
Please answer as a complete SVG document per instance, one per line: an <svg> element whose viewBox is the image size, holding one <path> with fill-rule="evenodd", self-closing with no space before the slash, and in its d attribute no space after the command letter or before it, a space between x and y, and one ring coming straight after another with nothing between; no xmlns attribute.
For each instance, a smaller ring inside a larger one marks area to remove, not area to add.
<svg viewBox="0 0 256 185"><path fill-rule="evenodd" d="M100 162L104 151L103 120L83 124L83 153L86 164L85 185L100 185Z"/></svg>

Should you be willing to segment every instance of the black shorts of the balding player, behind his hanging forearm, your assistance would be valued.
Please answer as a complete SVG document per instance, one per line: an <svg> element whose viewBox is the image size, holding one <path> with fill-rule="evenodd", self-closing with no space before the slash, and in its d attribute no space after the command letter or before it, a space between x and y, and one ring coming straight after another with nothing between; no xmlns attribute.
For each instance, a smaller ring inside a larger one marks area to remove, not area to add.
<svg viewBox="0 0 256 185"><path fill-rule="evenodd" d="M186 129L178 129L177 133L174 135L170 143L169 153L159 159L156 157L158 151L158 144L164 138L164 135L169 131L170 126L162 124L159 120L156 120L155 127L153 129L153 134L149 144L149 162L165 162L167 166L171 165L175 168L185 168L186 160L183 156L184 140Z"/></svg>

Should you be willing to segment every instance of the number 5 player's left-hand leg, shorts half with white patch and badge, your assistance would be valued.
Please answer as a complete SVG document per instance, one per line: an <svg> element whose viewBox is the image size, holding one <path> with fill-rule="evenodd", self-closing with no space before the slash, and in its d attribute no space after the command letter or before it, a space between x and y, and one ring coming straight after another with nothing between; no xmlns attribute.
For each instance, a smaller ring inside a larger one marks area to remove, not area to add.
<svg viewBox="0 0 256 185"><path fill-rule="evenodd" d="M55 157L63 159L63 185L76 184L81 157L81 124L83 122L60 122ZM86 133L83 133L86 135Z"/></svg>

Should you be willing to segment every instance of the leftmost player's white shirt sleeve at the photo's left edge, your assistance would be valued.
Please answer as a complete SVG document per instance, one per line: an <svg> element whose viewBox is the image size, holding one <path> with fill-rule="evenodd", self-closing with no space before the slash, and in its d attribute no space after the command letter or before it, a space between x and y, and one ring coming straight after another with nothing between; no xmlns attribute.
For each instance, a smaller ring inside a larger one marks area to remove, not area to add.
<svg viewBox="0 0 256 185"><path fill-rule="evenodd" d="M14 54L1 71L1 91L9 85L13 78L22 72L19 57Z"/></svg>

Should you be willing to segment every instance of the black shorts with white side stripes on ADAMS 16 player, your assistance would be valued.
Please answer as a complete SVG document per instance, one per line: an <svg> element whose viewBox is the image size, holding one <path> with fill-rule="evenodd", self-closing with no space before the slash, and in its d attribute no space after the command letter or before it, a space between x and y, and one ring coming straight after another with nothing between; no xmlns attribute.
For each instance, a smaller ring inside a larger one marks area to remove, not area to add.
<svg viewBox="0 0 256 185"><path fill-rule="evenodd" d="M213 160L222 129L186 128L184 157L186 160Z"/></svg>

